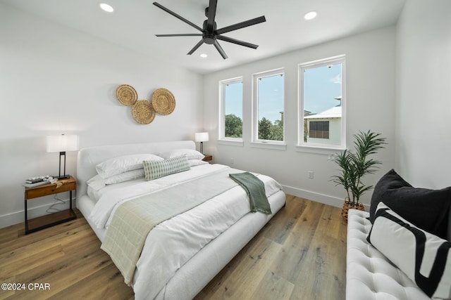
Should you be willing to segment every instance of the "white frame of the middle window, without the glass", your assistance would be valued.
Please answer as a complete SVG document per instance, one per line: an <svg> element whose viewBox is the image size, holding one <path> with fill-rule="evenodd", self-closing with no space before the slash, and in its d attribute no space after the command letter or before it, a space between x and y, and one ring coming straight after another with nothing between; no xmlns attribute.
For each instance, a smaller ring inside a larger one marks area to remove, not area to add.
<svg viewBox="0 0 451 300"><path fill-rule="evenodd" d="M285 116L285 69L278 68L252 74L252 143L253 147L285 150L285 119L283 122L283 141L259 139L259 84L258 80L264 77L283 75L283 115Z"/></svg>

